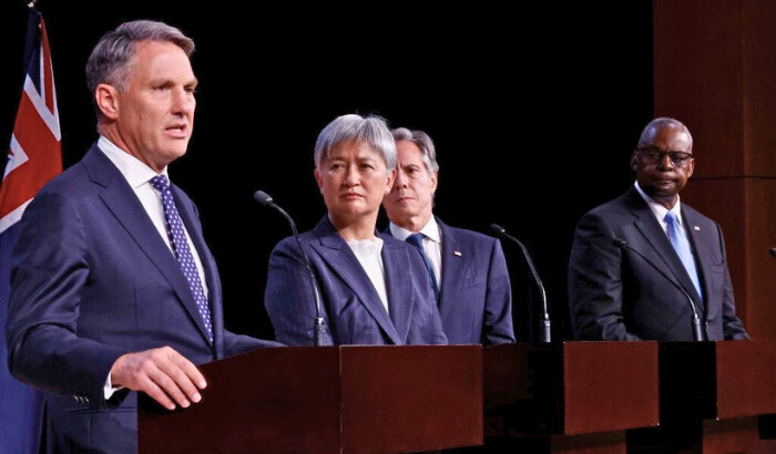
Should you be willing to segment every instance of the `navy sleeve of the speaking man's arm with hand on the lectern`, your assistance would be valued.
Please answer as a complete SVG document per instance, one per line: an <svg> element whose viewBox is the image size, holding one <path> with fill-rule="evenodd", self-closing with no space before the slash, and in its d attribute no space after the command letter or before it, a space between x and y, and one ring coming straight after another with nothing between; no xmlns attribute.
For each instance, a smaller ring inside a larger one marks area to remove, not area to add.
<svg viewBox="0 0 776 454"><path fill-rule="evenodd" d="M17 379L101 406L108 374L126 351L78 336L88 259L78 210L61 195L39 194L24 213L12 256L6 340Z"/></svg>

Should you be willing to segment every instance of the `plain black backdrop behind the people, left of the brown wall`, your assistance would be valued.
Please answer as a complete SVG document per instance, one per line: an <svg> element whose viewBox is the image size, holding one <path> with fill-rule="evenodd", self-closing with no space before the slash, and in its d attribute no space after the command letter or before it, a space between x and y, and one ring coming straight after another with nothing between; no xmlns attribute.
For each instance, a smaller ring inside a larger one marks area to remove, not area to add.
<svg viewBox="0 0 776 454"><path fill-rule="evenodd" d="M27 8L21 0L1 3L7 147ZM441 167L436 214L483 233L497 223L520 238L544 280L555 337L568 337L574 225L626 189L630 153L652 117L652 4L534 3L254 3L249 14L245 2L41 0L64 165L96 138L83 73L92 47L122 21L163 20L197 45L196 128L170 174L198 205L228 329L273 336L263 309L266 267L288 227L257 206L253 192L273 195L299 230L313 228L325 213L313 178L315 138L334 117L355 112L431 135ZM504 249L522 332L527 271L517 248Z"/></svg>

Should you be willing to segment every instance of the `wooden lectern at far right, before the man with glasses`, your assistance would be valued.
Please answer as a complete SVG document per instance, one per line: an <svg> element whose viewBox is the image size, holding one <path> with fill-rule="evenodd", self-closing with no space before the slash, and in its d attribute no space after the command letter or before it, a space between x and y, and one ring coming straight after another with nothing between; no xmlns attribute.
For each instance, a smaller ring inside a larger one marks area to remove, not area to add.
<svg viewBox="0 0 776 454"><path fill-rule="evenodd" d="M631 451L766 452L756 416L776 413L775 364L769 340L662 343L661 429L629 433Z"/></svg>

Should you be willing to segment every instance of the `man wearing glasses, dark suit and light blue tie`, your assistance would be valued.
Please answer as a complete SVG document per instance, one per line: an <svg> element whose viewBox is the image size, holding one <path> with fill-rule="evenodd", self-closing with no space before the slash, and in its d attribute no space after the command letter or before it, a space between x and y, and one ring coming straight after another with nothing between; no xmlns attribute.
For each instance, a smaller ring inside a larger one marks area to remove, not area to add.
<svg viewBox="0 0 776 454"><path fill-rule="evenodd" d="M693 138L676 120L646 125L636 180L582 217L569 262L576 339L747 339L736 317L719 226L680 202L693 174Z"/></svg>

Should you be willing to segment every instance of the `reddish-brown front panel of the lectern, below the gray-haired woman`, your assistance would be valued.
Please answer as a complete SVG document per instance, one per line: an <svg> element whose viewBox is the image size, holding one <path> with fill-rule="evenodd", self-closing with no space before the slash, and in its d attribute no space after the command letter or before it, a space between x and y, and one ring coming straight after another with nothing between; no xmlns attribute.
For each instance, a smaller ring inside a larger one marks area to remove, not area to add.
<svg viewBox="0 0 776 454"><path fill-rule="evenodd" d="M345 453L482 444L481 347L344 347L341 353Z"/></svg>

